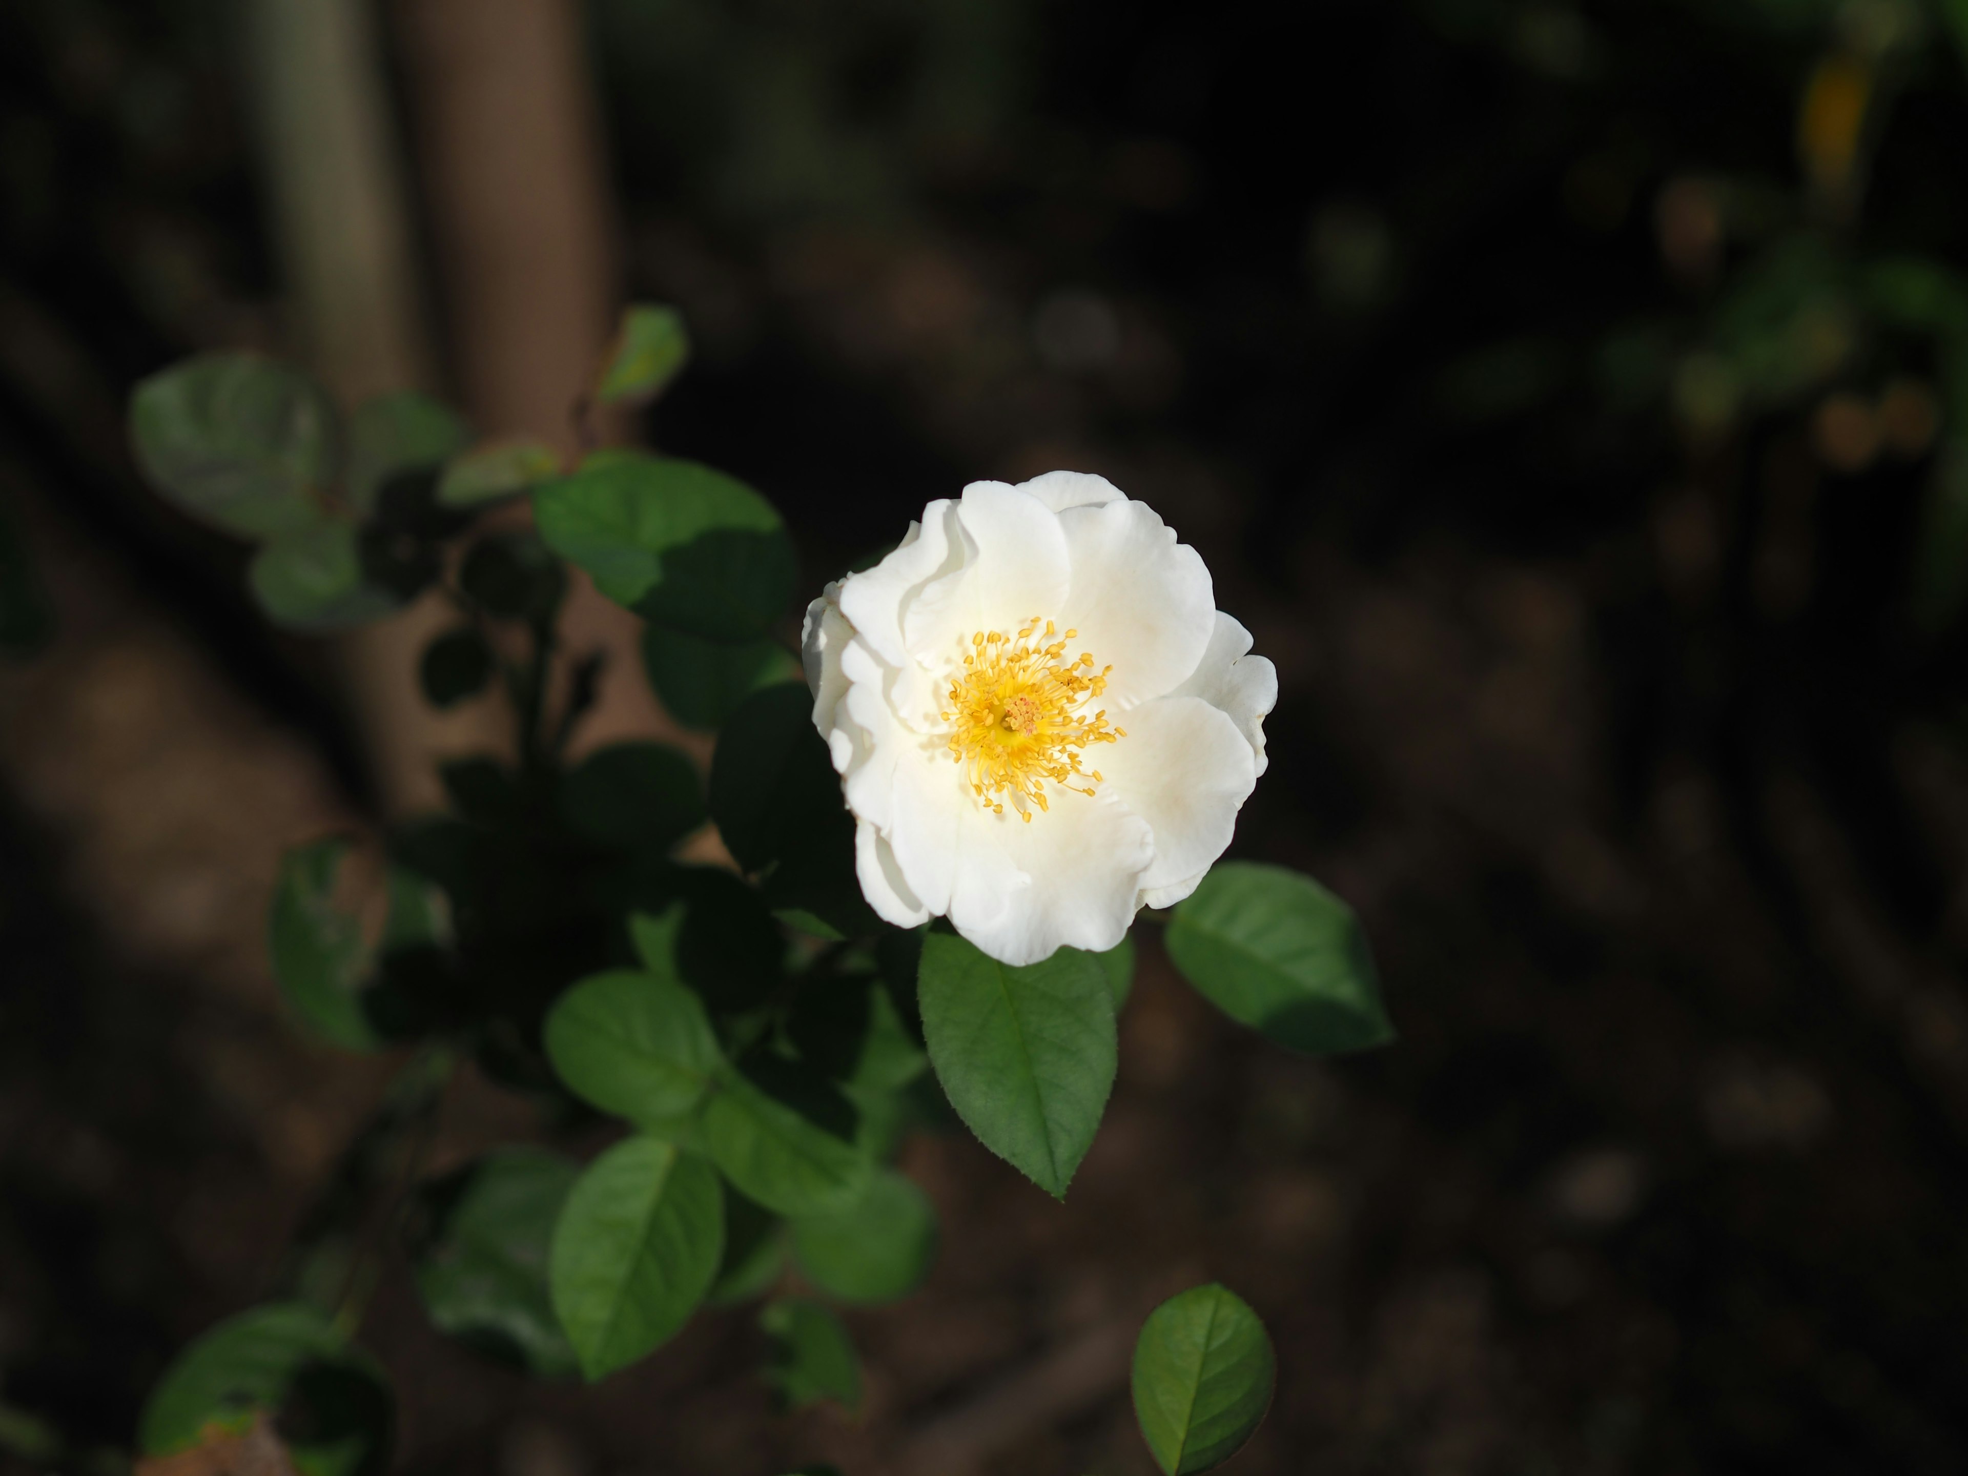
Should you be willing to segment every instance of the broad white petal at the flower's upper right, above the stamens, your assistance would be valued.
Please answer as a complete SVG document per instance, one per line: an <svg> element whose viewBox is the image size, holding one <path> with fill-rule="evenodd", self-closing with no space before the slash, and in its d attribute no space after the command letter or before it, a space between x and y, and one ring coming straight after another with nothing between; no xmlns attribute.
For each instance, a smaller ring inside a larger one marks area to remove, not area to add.
<svg viewBox="0 0 1968 1476"><path fill-rule="evenodd" d="M1073 557L1061 630L1076 628L1069 655L1112 665L1108 708L1163 697L1208 647L1216 620L1210 571L1145 502L1106 502L1059 514ZM1047 610L1051 614L1051 610Z"/></svg>

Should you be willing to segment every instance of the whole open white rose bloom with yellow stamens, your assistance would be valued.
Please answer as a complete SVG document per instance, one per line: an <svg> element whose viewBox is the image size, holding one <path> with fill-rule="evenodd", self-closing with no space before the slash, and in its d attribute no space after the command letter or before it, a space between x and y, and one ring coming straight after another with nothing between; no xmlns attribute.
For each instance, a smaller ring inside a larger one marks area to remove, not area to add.
<svg viewBox="0 0 1968 1476"><path fill-rule="evenodd" d="M1277 673L1102 476L972 482L807 610L870 905L1029 964L1181 901L1263 773Z"/></svg>

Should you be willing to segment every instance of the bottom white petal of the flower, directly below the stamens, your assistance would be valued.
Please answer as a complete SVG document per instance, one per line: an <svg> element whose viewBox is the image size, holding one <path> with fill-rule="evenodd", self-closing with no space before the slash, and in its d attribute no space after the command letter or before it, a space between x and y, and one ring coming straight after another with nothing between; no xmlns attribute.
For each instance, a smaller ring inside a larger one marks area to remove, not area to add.
<svg viewBox="0 0 1968 1476"><path fill-rule="evenodd" d="M962 825L949 919L1000 962L1035 964L1055 949L1102 953L1134 921L1153 832L1114 795L1053 793L1021 821L972 807Z"/></svg>

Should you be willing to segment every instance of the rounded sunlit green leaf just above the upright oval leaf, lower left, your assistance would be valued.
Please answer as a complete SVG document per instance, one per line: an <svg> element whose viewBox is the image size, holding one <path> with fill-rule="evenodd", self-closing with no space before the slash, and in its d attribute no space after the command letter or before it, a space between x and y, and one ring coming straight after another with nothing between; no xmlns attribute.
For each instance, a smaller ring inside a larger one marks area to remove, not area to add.
<svg viewBox="0 0 1968 1476"><path fill-rule="evenodd" d="M626 970L575 984L549 1012L543 1037L575 1096L636 1124L695 1108L722 1061L695 994Z"/></svg>

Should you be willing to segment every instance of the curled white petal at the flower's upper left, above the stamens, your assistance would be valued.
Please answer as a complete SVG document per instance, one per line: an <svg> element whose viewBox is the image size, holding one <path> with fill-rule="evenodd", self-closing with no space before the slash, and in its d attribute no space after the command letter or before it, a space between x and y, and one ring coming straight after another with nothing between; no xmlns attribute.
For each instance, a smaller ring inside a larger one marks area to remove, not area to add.
<svg viewBox="0 0 1968 1476"><path fill-rule="evenodd" d="M958 661L976 632L1010 634L1057 610L1067 594L1067 535L1059 514L1037 498L1004 482L972 482L956 523L962 567L925 584L901 614L909 651L931 671Z"/></svg>

